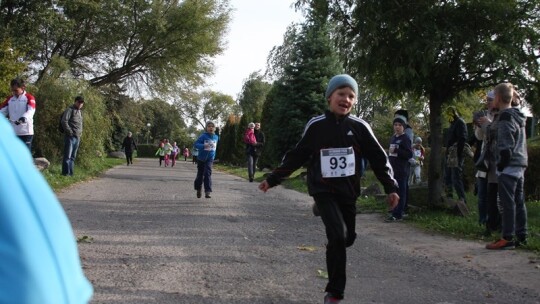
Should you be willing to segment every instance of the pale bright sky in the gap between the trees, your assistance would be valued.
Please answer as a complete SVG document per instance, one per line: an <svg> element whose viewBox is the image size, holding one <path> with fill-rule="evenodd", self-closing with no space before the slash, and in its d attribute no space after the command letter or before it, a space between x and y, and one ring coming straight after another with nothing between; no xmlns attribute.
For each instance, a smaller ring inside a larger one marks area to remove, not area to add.
<svg viewBox="0 0 540 304"><path fill-rule="evenodd" d="M268 54L283 43L287 26L302 20L301 13L291 7L293 2L231 0L233 11L226 48L214 60L215 75L207 81L208 89L236 99L251 73L264 73Z"/></svg>

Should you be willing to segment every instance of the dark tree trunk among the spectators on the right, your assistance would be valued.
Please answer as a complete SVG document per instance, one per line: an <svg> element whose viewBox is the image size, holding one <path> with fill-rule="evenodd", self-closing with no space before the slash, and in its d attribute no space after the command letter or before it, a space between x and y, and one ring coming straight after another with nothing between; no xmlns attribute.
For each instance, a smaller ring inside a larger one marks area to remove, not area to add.
<svg viewBox="0 0 540 304"><path fill-rule="evenodd" d="M431 96L429 100L429 145L431 151L429 154L429 169L428 169L428 201L431 206L440 204L444 170L443 170L443 154L442 154L442 121L441 121L441 109L442 98L440 96Z"/></svg>

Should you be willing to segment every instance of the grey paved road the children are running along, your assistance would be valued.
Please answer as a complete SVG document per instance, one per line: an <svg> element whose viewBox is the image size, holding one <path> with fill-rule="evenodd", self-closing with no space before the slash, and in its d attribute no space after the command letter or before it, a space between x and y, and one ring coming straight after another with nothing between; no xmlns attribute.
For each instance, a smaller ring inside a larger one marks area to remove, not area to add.
<svg viewBox="0 0 540 304"><path fill-rule="evenodd" d="M322 303L325 236L312 200L219 172L213 197L197 199L194 175L189 162L137 159L59 193L77 236L94 238L79 245L92 303ZM526 253L377 214L357 222L344 304L540 303Z"/></svg>

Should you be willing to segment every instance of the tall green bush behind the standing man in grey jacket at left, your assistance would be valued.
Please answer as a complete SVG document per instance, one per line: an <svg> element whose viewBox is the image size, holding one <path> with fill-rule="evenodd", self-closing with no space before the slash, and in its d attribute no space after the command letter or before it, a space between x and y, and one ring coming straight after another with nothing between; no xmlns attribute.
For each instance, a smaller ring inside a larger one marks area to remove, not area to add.
<svg viewBox="0 0 540 304"><path fill-rule="evenodd" d="M55 58L48 72L37 84L34 136L35 154L51 162L62 159L64 134L58 131L58 121L77 95L85 98L83 107L83 135L77 155L77 166L88 167L96 158L103 157L109 141L110 121L105 116L105 102L101 94L84 81L77 80L67 70L66 61Z"/></svg>

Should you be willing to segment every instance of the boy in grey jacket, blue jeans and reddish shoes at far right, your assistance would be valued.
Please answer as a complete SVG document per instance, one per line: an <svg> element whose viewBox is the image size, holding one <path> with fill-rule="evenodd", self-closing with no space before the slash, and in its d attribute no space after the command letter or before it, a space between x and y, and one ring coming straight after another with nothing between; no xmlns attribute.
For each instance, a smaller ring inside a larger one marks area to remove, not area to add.
<svg viewBox="0 0 540 304"><path fill-rule="evenodd" d="M527 244L527 208L523 183L528 165L526 118L512 107L514 87L501 83L495 87L495 106L499 108L497 128L497 172L502 207L502 237L487 249L512 249Z"/></svg>

